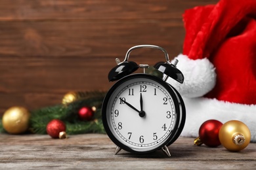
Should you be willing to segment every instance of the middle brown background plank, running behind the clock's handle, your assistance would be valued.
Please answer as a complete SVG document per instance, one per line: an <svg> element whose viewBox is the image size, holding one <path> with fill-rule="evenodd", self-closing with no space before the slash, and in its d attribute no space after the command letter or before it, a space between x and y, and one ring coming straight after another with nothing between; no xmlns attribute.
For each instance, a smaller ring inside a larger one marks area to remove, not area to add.
<svg viewBox="0 0 256 170"><path fill-rule="evenodd" d="M123 56L137 44L157 44L177 55L184 39L182 20L0 22L0 30L1 58L104 59Z"/></svg>

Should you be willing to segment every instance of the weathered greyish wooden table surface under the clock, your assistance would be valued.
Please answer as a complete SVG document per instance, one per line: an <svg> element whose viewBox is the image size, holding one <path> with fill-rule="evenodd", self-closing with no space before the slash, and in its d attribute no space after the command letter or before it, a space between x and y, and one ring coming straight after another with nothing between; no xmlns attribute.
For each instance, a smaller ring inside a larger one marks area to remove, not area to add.
<svg viewBox="0 0 256 170"><path fill-rule="evenodd" d="M193 138L180 137L169 146L171 158L161 150L136 155L121 150L107 135L0 136L0 169L255 169L256 143L240 152L223 146L194 146Z"/></svg>

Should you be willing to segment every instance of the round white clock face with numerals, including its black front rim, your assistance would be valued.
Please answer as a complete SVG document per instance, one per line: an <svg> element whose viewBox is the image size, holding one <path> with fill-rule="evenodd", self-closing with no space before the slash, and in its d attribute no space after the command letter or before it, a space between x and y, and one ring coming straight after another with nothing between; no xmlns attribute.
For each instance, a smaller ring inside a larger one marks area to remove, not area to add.
<svg viewBox="0 0 256 170"><path fill-rule="evenodd" d="M130 152L149 152L168 144L179 126L179 102L160 78L126 76L108 92L102 106L106 133Z"/></svg>

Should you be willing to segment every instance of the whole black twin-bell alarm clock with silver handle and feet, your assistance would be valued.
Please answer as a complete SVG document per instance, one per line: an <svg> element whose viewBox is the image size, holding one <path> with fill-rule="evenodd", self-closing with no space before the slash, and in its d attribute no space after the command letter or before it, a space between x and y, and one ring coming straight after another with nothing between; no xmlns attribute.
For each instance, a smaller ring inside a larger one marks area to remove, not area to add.
<svg viewBox="0 0 256 170"><path fill-rule="evenodd" d="M165 78L148 75L145 71L132 74L139 67L148 67L128 61L131 51L137 48L155 48L165 54L166 61L154 65ZM160 46L145 44L130 48L124 61L110 71L108 79L117 82L102 103L102 122L108 137L117 145L115 154L121 149L136 154L161 149L171 156L167 146L181 135L186 119L181 95L166 82L168 77L183 82L177 62L171 63Z"/></svg>

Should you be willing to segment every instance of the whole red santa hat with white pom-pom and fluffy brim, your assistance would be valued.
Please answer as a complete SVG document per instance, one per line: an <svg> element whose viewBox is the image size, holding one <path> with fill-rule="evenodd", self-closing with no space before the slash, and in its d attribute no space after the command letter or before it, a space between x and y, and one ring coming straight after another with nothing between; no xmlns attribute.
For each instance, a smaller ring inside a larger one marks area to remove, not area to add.
<svg viewBox="0 0 256 170"><path fill-rule="evenodd" d="M240 120L256 142L256 1L221 0L184 12L184 83L167 81L186 105L183 136L198 137L203 122Z"/></svg>

